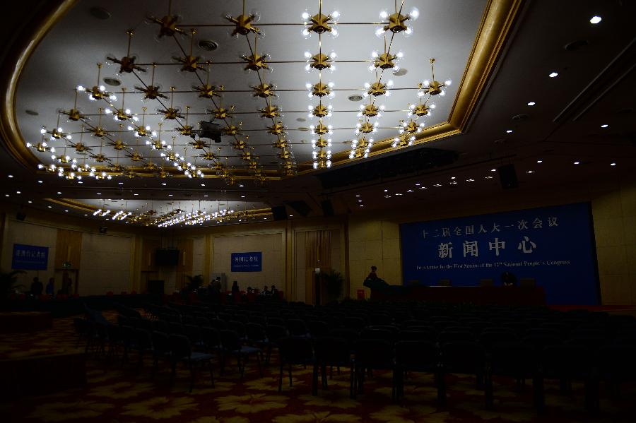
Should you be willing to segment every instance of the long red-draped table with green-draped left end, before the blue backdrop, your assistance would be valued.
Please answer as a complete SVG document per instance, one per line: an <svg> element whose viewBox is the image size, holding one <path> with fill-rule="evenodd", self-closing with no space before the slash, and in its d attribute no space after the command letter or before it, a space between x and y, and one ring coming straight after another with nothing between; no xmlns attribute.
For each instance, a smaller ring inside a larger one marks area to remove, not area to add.
<svg viewBox="0 0 636 423"><path fill-rule="evenodd" d="M366 279L363 283L371 290L372 301L425 301L471 304L546 304L543 287L436 287L389 285L382 279Z"/></svg>

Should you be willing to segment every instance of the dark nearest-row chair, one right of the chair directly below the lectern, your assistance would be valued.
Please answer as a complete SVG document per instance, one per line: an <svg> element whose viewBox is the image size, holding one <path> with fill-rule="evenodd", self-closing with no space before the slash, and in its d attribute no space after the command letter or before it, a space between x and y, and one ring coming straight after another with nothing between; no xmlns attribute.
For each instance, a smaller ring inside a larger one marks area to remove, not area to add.
<svg viewBox="0 0 636 423"><path fill-rule="evenodd" d="M396 398L404 397L404 376L407 371L423 371L435 375L437 403L446 397L440 352L434 342L406 340L395 343Z"/></svg>

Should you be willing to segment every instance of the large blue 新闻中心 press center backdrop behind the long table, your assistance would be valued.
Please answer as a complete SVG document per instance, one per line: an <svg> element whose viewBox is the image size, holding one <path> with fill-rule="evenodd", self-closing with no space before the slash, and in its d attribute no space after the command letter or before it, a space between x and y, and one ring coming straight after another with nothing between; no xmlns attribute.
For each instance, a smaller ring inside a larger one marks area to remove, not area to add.
<svg viewBox="0 0 636 423"><path fill-rule="evenodd" d="M534 278L548 304L598 304L589 203L400 225L404 282Z"/></svg>

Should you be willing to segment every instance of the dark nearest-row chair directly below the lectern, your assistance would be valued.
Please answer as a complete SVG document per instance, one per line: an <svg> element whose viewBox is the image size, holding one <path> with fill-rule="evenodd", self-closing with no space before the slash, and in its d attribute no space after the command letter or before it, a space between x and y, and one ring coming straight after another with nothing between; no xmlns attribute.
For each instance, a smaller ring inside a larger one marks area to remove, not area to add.
<svg viewBox="0 0 636 423"><path fill-rule="evenodd" d="M364 393L365 371L367 369L389 369L393 371L391 398L395 397L396 374L393 345L387 340L358 339L355 341L355 361L353 369L353 397Z"/></svg>

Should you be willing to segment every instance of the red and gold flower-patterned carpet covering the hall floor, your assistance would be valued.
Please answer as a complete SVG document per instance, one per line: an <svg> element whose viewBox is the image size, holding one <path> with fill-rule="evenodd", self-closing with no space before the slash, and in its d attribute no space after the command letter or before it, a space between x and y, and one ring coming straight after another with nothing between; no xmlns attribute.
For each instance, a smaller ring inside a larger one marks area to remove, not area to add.
<svg viewBox="0 0 636 423"><path fill-rule="evenodd" d="M110 315L110 318L114 316ZM2 335L0 359L46 355L70 351L76 345L72 318L54 320L52 330L28 335ZM192 393L188 393L189 371L179 369L172 387L167 364L151 379L151 360L139 371L136 356L122 367L117 359L88 359L88 384L49 395L22 397L0 404L5 422L633 422L636 412L636 386L623 386L620 398L601 387L601 415L592 419L584 411L583 386L563 395L557 381L546 381L545 415L532 407L531 386L518 392L507 379L495 379L495 410L484 407L483 391L476 389L469 376L447 375L447 406L438 409L432 376L411 374L405 386L406 397L398 405L391 401L391 374L375 371L365 381L365 393L352 400L348 395L348 369L334 371L329 390L311 395L311 369L293 369L293 387L285 375L283 392L278 393L278 367L264 369L260 377L256 363L247 365L240 381L235 362L225 375L201 371Z"/></svg>

